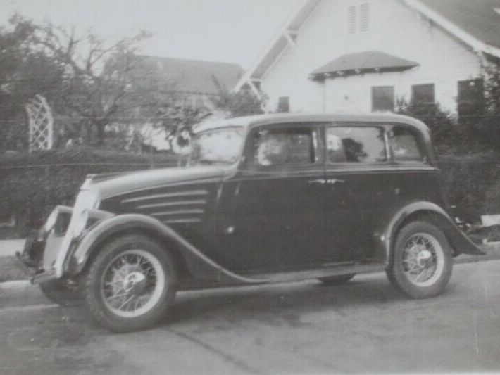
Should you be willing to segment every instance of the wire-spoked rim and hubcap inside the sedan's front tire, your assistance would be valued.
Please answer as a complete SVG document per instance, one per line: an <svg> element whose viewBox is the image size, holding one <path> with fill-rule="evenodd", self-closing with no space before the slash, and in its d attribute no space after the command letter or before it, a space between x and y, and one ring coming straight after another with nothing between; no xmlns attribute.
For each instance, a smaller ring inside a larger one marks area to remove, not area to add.
<svg viewBox="0 0 500 375"><path fill-rule="evenodd" d="M144 250L127 250L106 267L101 280L104 305L120 317L137 317L151 310L165 288L160 262Z"/></svg>

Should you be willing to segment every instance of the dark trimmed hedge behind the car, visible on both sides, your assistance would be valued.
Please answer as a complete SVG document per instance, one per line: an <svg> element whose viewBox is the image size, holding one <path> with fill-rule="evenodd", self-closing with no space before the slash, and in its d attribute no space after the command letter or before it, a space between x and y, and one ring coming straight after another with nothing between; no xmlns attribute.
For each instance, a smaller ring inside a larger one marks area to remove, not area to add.
<svg viewBox="0 0 500 375"><path fill-rule="evenodd" d="M1 236L24 236L43 224L54 205L73 205L90 173L125 172L175 165L173 155L135 155L93 149L0 155L0 217L15 212L17 225ZM468 222L500 213L500 164L494 158L442 157L439 165L449 201ZM487 194L489 192L489 194Z"/></svg>

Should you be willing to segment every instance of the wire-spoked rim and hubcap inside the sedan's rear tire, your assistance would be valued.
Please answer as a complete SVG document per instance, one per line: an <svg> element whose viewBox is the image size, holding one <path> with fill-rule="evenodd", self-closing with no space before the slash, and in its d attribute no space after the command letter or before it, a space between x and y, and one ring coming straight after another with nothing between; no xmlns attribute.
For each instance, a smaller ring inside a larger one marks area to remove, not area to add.
<svg viewBox="0 0 500 375"><path fill-rule="evenodd" d="M430 286L444 269L444 252L434 236L413 234L403 247L403 267L406 278L417 286Z"/></svg>

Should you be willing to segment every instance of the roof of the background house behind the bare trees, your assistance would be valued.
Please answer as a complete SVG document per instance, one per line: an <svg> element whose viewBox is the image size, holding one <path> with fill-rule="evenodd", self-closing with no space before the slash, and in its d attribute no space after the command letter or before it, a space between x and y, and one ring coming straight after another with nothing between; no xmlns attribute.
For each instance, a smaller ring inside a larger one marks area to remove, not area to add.
<svg viewBox="0 0 500 375"><path fill-rule="evenodd" d="M158 56L137 57L159 79L172 82L176 92L216 95L219 90L215 80L223 89L230 91L243 75L242 67L234 63Z"/></svg>

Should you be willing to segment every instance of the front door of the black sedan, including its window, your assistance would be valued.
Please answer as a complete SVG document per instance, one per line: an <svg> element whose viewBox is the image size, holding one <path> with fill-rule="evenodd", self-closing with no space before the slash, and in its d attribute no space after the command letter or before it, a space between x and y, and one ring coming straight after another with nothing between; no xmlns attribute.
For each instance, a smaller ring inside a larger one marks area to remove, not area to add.
<svg viewBox="0 0 500 375"><path fill-rule="evenodd" d="M303 267L324 248L323 152L319 127L264 125L252 129L246 161L230 182L234 231L224 243L235 269Z"/></svg>

